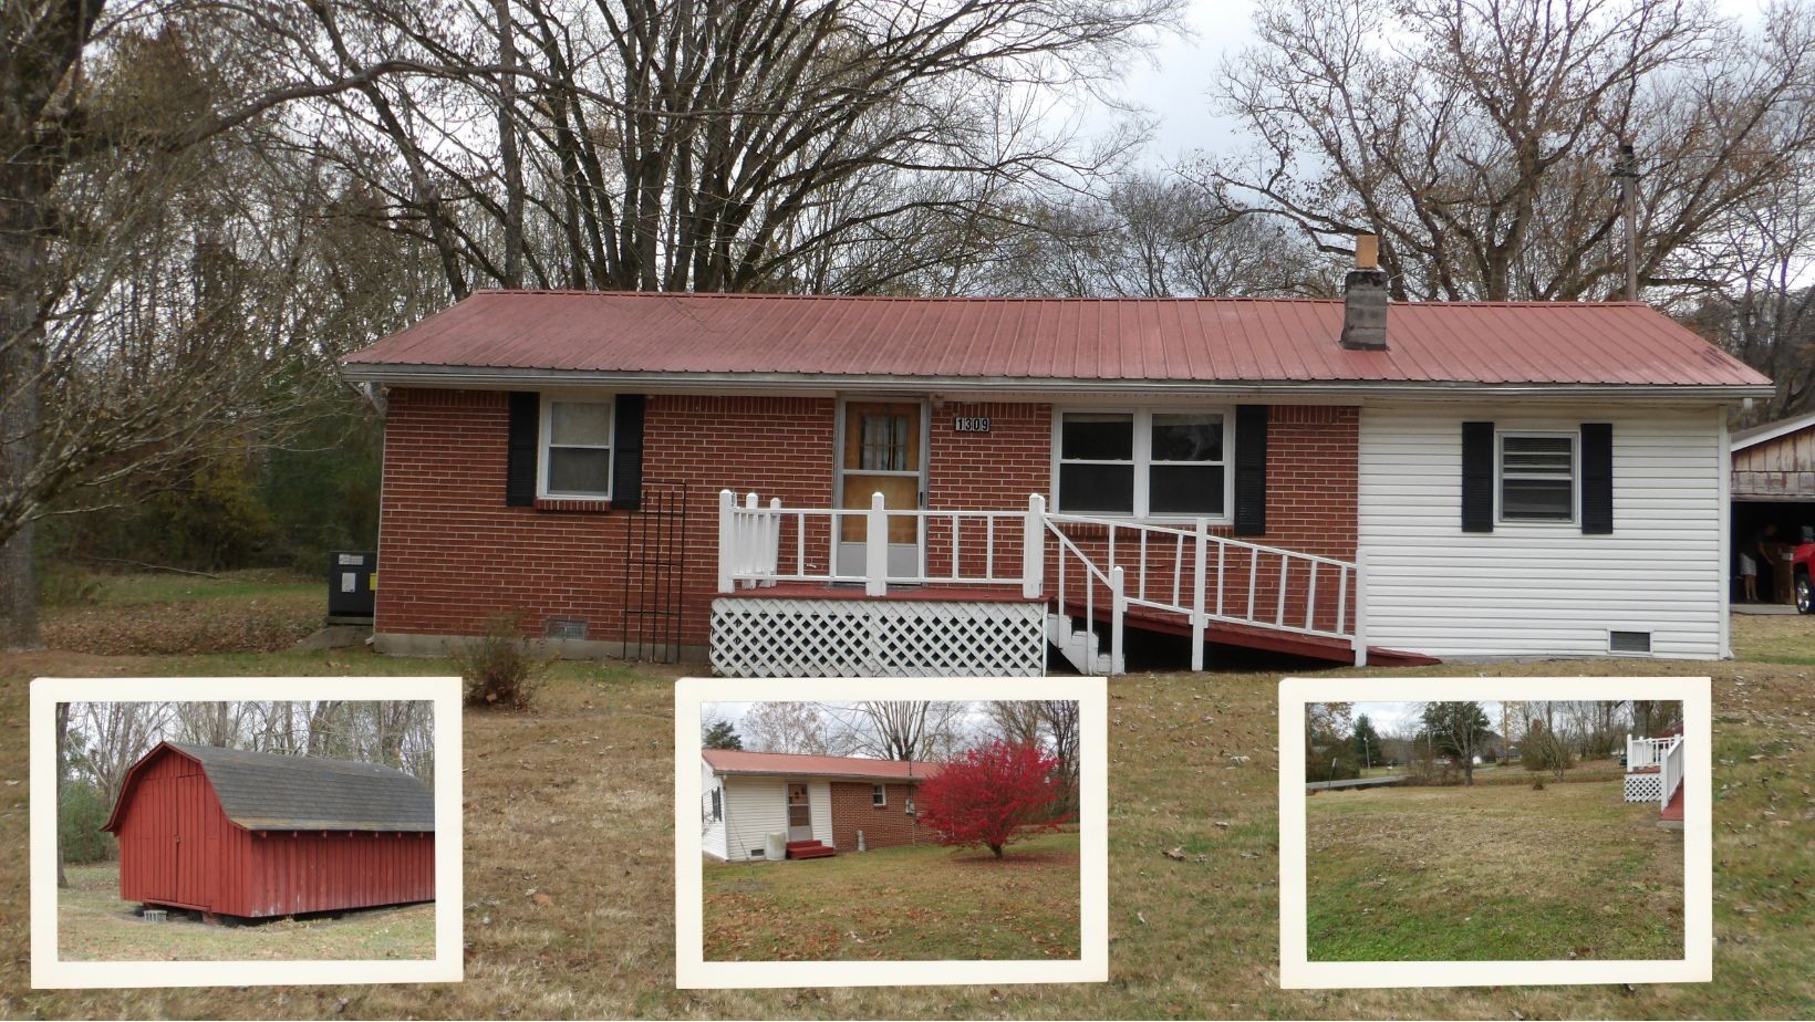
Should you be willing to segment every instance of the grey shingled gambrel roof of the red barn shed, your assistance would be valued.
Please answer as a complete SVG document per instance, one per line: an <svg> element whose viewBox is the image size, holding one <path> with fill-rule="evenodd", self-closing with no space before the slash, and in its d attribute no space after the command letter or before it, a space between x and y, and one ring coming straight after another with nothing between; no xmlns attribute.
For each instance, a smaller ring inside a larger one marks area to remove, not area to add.
<svg viewBox="0 0 1815 1022"><path fill-rule="evenodd" d="M113 817L102 830L118 826L120 808L129 802L136 773L163 750L200 762L221 811L245 830L436 830L434 793L401 770L318 755L178 742L160 742L132 766Z"/></svg>

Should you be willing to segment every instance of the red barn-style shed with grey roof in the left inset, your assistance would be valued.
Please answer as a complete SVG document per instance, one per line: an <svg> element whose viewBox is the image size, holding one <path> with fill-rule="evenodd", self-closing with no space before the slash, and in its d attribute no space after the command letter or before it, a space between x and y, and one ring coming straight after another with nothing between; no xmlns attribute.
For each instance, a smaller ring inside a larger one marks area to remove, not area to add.
<svg viewBox="0 0 1815 1022"><path fill-rule="evenodd" d="M162 742L107 826L120 897L270 917L436 897L436 804L374 762Z"/></svg>

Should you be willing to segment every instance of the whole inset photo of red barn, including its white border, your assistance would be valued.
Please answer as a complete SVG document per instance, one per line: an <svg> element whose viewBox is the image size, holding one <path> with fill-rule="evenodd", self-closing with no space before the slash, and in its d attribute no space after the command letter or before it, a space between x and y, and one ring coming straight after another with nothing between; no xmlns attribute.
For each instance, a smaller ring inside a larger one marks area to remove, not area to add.
<svg viewBox="0 0 1815 1022"><path fill-rule="evenodd" d="M457 677L40 677L29 713L34 989L463 978Z"/></svg>

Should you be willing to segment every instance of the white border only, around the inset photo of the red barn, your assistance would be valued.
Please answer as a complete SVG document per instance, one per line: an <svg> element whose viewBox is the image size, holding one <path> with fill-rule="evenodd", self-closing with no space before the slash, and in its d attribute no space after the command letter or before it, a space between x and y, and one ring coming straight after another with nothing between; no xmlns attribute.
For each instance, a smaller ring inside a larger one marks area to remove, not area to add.
<svg viewBox="0 0 1815 1022"><path fill-rule="evenodd" d="M56 944L56 704L238 703L245 699L408 701L436 708L436 957L423 960L65 962ZM40 677L31 683L31 986L203 988L459 982L461 683L457 677Z"/></svg>

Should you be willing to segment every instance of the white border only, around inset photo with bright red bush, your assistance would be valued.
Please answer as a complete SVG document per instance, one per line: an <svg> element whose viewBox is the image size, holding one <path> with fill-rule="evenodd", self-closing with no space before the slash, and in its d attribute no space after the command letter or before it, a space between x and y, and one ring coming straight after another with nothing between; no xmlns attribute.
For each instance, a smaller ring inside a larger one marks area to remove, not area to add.
<svg viewBox="0 0 1815 1022"><path fill-rule="evenodd" d="M1078 701L1078 958L1060 962L708 962L699 831L699 722L706 703L835 703L860 693L915 699ZM1047 984L1109 980L1109 683L1102 677L837 677L675 683L675 986L753 989L804 986Z"/></svg>

